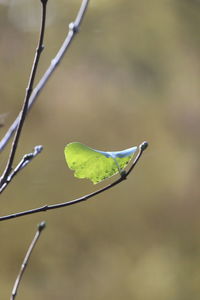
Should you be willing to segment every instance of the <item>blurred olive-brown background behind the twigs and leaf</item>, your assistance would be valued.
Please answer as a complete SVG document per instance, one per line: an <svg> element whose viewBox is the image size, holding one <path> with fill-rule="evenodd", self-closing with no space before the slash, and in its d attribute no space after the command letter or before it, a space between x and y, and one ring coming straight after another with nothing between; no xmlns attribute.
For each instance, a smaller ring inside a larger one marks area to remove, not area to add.
<svg viewBox="0 0 200 300"><path fill-rule="evenodd" d="M81 1L50 1L38 81ZM0 1L3 137L37 44L40 1ZM9 299L37 224L19 299L188 300L200 295L200 1L91 1L72 46L26 120L15 163L44 150L1 195L1 216L94 191L64 146L149 148L128 180L68 208L0 224L0 299ZM1 153L4 169L9 148ZM114 178L110 180L112 182Z"/></svg>

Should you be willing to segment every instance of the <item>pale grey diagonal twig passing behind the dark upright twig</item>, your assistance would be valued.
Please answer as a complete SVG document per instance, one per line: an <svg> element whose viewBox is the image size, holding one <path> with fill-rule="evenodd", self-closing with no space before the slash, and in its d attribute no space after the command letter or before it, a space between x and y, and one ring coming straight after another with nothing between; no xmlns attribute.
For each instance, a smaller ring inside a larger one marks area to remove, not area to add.
<svg viewBox="0 0 200 300"><path fill-rule="evenodd" d="M83 21L83 17L85 15L88 4L89 4L89 0L82 1L81 7L79 9L79 12L77 14L75 21L69 24L69 31L68 31L68 34L67 34L62 46L58 50L55 58L51 61L50 66L48 67L48 69L46 70L46 72L44 73L44 75L42 76L42 78L40 79L40 81L38 82L36 87L34 88L32 94L29 98L28 110L30 110L32 105L37 100L38 95L40 94L40 92L42 91L44 86L46 85L48 79L51 77L51 75L55 71L58 64L61 62L63 56L65 55L66 51L68 50L76 33L78 33L79 27ZM19 124L20 116L21 116L21 113L17 116L16 120L13 122L13 124L10 126L10 128L8 129L8 131L6 132L6 134L0 141L0 152L4 149L4 147L7 145L10 138L12 137L13 133L15 132L15 130Z"/></svg>

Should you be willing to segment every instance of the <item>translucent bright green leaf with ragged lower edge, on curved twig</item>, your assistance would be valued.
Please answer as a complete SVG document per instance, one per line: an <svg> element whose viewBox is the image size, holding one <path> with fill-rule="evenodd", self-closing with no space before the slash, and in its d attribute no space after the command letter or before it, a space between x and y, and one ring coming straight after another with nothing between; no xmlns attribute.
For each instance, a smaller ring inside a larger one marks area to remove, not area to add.
<svg viewBox="0 0 200 300"><path fill-rule="evenodd" d="M68 144L64 153L68 167L75 171L75 177L88 178L96 184L114 174L121 174L136 150L137 147L132 147L123 151L104 152L75 142Z"/></svg>

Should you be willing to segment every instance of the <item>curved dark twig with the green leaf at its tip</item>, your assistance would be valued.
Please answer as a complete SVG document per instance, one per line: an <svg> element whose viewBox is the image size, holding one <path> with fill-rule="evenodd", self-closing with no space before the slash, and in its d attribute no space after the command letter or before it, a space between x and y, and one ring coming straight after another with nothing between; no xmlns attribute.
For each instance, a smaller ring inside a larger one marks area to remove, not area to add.
<svg viewBox="0 0 200 300"><path fill-rule="evenodd" d="M97 190L97 191L95 191L91 194L84 195L83 197L77 198L75 200L68 201L68 202L52 204L52 205L45 205L45 206L34 208L34 209L31 209L31 210L26 210L26 211L22 211L22 212L19 212L19 213L14 213L14 214L7 215L7 216L2 216L2 217L0 217L0 221L6 221L6 220L9 220L9 219L18 218L18 217L22 217L22 216L25 216L25 215L31 215L31 214L44 212L44 211L48 211L48 210L52 210L52 209L56 209L56 208L61 208L61 207L66 207L66 206L78 204L80 202L86 201L86 200L88 200L88 199L90 199L90 198L92 198L92 197L94 197L98 194L101 194L101 193L113 188L114 186L118 185L120 182L125 180L127 178L127 176L130 174L130 172L133 171L133 169L135 168L136 164L138 163L140 157L142 156L142 154L143 154L144 150L147 148L147 146L148 146L148 143L143 142L139 146L138 154L137 154L135 160L133 161L131 167L129 168L129 170L127 172L123 172L119 179L117 179L113 183L103 187L102 189Z"/></svg>

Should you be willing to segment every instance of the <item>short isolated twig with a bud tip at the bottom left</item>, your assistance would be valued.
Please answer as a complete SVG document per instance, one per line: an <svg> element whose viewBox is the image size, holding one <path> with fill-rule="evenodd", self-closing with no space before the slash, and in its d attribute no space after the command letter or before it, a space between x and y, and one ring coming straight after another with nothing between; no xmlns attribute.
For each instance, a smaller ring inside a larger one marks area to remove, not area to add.
<svg viewBox="0 0 200 300"><path fill-rule="evenodd" d="M14 286L13 286L13 290L12 290L12 294L11 294L11 296L10 296L10 300L14 300L15 297L16 297L16 295L17 295L17 291L18 291L18 288L19 288L19 285L20 285L22 276L23 276L23 274L24 274L24 272L25 272L25 270L26 270L27 264L28 264L28 262L29 262L31 253L33 252L33 249L34 249L34 247L35 247L35 245L36 245L36 243L37 243L37 241L38 241L38 239L39 239L39 237L40 237L40 235L41 235L43 229L45 228L45 226L46 226L46 224L45 224L45 222L43 221L43 222L41 222L41 223L38 225L38 227L37 227L36 234L35 234L35 236L34 236L32 242L31 242L31 244L30 244L30 246L29 246L29 248L28 248L28 251L27 251L27 253L26 253L25 257L24 257L24 260L23 260L23 263L22 263L22 265L21 265L19 274L18 274L18 276L17 276L17 278L16 278L16 281L15 281L15 284L14 284Z"/></svg>

